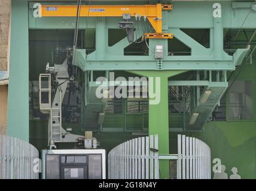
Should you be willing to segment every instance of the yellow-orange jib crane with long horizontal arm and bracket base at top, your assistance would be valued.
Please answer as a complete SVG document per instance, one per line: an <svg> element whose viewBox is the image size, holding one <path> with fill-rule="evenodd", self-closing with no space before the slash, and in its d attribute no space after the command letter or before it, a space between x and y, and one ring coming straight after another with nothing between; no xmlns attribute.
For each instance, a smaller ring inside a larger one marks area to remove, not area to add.
<svg viewBox="0 0 256 191"><path fill-rule="evenodd" d="M172 5L81 5L80 17L131 17L147 18L156 33L145 33L144 38L173 38L162 31L162 10L172 10ZM76 17L76 5L42 5L42 17Z"/></svg>

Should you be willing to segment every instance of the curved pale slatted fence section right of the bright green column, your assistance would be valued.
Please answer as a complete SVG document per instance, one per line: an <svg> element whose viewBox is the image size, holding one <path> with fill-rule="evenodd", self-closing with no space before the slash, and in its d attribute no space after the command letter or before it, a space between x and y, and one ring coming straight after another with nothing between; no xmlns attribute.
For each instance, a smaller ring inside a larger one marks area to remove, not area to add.
<svg viewBox="0 0 256 191"><path fill-rule="evenodd" d="M211 179L211 150L197 138L178 135L178 179Z"/></svg>

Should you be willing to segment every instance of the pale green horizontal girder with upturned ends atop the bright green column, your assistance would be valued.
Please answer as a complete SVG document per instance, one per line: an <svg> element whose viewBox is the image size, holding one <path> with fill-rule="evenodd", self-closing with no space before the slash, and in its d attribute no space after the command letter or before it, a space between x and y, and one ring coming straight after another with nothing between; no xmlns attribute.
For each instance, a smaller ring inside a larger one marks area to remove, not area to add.
<svg viewBox="0 0 256 191"><path fill-rule="evenodd" d="M234 70L241 63L248 50L238 50L236 60L204 60L203 57L196 56L164 57L162 70ZM158 69L157 60L150 56L120 56L119 58L115 57L115 60L86 60L84 53L85 50L77 50L75 62L83 71Z"/></svg>

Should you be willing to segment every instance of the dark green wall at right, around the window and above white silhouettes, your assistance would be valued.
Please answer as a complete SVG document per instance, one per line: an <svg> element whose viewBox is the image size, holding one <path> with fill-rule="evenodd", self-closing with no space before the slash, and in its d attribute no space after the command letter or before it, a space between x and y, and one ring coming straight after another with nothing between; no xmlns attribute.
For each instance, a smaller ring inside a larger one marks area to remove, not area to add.
<svg viewBox="0 0 256 191"><path fill-rule="evenodd" d="M255 55L255 54L254 54ZM237 67L236 72L230 78L230 84L234 76L239 73L237 80L248 80L254 82L254 97L256 95L256 60L253 64L246 61ZM240 70L242 67L242 70ZM239 72L240 70L240 72ZM227 94L228 95L228 94ZM226 99L226 110L228 110L228 96ZM252 120L228 120L207 122L203 133L187 133L191 137L197 137L211 148L211 159L220 158L225 165L228 177L232 174L231 168L236 167L242 178L256 178L256 101L254 101L254 119ZM228 115L228 112L226 112ZM170 152L177 153L177 135L170 133ZM212 164L214 165L214 164ZM212 174L213 177L213 174Z"/></svg>

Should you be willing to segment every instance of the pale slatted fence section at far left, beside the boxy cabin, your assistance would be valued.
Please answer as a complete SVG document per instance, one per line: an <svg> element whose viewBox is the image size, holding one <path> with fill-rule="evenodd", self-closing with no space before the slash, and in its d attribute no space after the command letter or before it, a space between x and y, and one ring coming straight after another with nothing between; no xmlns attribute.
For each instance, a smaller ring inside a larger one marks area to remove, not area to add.
<svg viewBox="0 0 256 191"><path fill-rule="evenodd" d="M31 144L0 135L0 179L37 179L34 159L38 159L38 150Z"/></svg>

